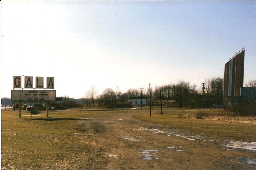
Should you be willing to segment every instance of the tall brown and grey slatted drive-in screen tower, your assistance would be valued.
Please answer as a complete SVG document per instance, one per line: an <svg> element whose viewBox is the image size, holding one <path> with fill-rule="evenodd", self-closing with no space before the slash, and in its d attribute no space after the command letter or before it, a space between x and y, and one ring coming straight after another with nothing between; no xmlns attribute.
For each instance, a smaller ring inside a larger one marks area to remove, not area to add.
<svg viewBox="0 0 256 170"><path fill-rule="evenodd" d="M225 64L223 107L232 108L235 98L240 96L244 86L244 48Z"/></svg>

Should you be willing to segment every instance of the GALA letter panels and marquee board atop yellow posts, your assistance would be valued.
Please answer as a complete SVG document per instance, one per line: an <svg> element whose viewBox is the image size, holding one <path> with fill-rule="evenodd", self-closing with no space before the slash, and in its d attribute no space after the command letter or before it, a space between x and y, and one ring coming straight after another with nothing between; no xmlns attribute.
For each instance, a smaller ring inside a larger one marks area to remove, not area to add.
<svg viewBox="0 0 256 170"><path fill-rule="evenodd" d="M13 76L13 90L11 91L12 102L52 102L55 101L56 90L54 89L54 77L46 78L46 88L44 89L44 77L36 77L36 89L33 89L33 77L24 77L24 90L21 87L21 76ZM16 89L16 90L14 90ZM22 90L18 90L22 89ZM27 90L30 89L30 90Z"/></svg>

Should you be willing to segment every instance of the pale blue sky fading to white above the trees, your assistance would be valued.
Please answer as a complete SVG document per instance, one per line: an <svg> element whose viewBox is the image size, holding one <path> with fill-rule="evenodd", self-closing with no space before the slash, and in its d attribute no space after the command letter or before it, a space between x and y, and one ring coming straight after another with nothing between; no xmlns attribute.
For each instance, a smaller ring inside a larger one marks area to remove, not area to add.
<svg viewBox="0 0 256 170"><path fill-rule="evenodd" d="M243 47L244 84L256 79L256 1L0 3L1 97L22 75L54 77L56 96L73 98L92 85L201 88Z"/></svg>

